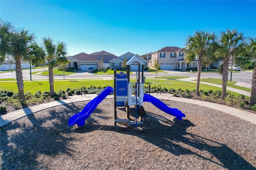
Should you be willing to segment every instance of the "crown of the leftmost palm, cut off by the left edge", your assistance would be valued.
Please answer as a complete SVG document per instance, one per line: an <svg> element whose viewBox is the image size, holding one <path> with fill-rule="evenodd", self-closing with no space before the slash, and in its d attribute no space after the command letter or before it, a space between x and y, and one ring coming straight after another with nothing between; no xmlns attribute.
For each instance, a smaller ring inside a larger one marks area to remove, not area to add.
<svg viewBox="0 0 256 170"><path fill-rule="evenodd" d="M11 55L14 50L14 33L12 23L0 20L0 65L4 63L6 55Z"/></svg>

